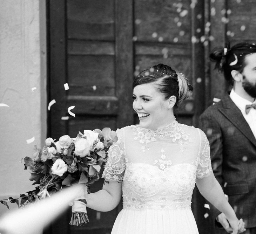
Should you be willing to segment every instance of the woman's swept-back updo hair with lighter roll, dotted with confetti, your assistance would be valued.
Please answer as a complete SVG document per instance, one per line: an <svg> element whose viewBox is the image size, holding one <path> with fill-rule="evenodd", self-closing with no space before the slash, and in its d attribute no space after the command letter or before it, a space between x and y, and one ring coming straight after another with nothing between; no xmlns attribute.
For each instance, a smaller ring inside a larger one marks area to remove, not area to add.
<svg viewBox="0 0 256 234"><path fill-rule="evenodd" d="M162 63L149 69L141 71L134 78L133 89L140 84L156 84L156 89L164 95L166 99L170 96L176 97L175 106L178 106L184 99L190 96L192 86L184 74L176 72L171 67Z"/></svg>

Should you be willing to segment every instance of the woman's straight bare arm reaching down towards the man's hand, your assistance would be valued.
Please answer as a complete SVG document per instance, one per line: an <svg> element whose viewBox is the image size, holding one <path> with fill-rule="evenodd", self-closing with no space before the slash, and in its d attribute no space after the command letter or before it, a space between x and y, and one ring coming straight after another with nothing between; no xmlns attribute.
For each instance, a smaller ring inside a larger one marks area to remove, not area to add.
<svg viewBox="0 0 256 234"><path fill-rule="evenodd" d="M237 233L238 219L233 208L225 198L221 185L218 183L213 173L202 179L196 180L196 186L203 197L213 204L220 212L223 212L229 221L233 233ZM239 225L238 233L244 230L244 224Z"/></svg>

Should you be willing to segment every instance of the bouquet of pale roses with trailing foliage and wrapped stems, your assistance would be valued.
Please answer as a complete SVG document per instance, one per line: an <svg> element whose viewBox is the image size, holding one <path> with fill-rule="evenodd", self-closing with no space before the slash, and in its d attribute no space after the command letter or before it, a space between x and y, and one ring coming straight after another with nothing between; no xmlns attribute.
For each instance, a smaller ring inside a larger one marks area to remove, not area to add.
<svg viewBox="0 0 256 234"><path fill-rule="evenodd" d="M101 165L106 161L109 146L117 141L117 136L110 128L102 131L84 130L76 138L68 135L62 136L57 142L47 138L45 146L38 149L35 146L33 157L23 159L25 170L31 173L29 180L38 185L35 190L21 194L19 198L8 198L0 202L8 207L7 201L23 207L31 202L36 202L51 194L60 191L63 187L83 183L87 185L99 180ZM86 200L84 191L74 201L70 225L83 225L87 223ZM7 200L7 201L6 201ZM9 208L9 207L8 207Z"/></svg>

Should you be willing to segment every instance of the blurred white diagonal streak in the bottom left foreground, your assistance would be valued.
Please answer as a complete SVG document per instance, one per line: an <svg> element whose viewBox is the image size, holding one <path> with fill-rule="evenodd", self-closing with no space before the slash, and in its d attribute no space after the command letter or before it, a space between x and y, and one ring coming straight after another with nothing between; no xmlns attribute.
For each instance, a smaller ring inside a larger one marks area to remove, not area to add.
<svg viewBox="0 0 256 234"><path fill-rule="evenodd" d="M73 185L31 204L2 216L0 232L6 234L38 234L67 208L81 191L82 184Z"/></svg>

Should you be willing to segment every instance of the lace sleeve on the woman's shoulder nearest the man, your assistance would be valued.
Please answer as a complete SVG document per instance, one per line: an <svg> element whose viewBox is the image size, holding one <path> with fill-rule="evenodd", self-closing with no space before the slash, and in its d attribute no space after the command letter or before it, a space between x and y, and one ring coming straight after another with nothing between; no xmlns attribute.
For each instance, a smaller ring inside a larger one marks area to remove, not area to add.
<svg viewBox="0 0 256 234"><path fill-rule="evenodd" d="M205 133L199 130L200 136L200 149L198 153L198 164L196 170L196 179L202 179L203 177L209 175L213 169L211 168L211 158L210 158L210 145Z"/></svg>

